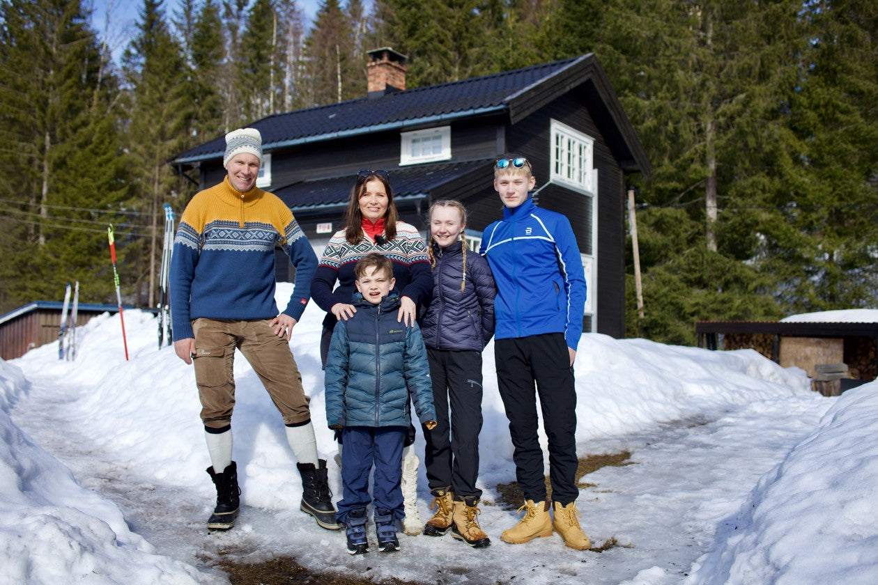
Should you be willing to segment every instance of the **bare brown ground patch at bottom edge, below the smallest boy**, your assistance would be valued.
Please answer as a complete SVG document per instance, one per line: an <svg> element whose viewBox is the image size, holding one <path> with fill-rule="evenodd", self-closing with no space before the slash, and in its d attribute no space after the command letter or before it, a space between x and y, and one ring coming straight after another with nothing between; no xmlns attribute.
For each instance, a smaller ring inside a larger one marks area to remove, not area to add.
<svg viewBox="0 0 878 585"><path fill-rule="evenodd" d="M374 585L376 582L390 585L417 585L413 581L386 579L371 581L356 579L342 574L314 573L299 565L292 557L276 557L259 563L220 561L217 567L228 575L232 585ZM369 570L368 568L366 569Z"/></svg>

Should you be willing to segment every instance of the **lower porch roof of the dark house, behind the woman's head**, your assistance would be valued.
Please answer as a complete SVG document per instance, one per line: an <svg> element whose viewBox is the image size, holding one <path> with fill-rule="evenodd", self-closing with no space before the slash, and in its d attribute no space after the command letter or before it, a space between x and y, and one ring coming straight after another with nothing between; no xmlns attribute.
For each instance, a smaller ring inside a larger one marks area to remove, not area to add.
<svg viewBox="0 0 878 585"><path fill-rule="evenodd" d="M388 175L393 189L393 199L401 203L407 199L423 198L448 182L456 181L461 176L473 172L486 176L490 173L493 163L493 159L490 159L392 169ZM279 196L294 213L324 210L327 207L346 206L350 188L355 181L356 176L344 175L295 182L285 187L271 189L271 192Z"/></svg>

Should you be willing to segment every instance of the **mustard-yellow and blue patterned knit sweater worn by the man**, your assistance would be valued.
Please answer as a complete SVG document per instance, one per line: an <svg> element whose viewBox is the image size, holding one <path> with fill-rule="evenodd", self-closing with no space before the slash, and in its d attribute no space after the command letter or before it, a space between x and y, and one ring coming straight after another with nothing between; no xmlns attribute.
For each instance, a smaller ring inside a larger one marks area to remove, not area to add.
<svg viewBox="0 0 878 585"><path fill-rule="evenodd" d="M277 317L275 246L290 256L296 282L284 314L302 316L317 256L286 204L253 188L241 193L228 177L186 206L170 266L174 340L194 337L191 322Z"/></svg>

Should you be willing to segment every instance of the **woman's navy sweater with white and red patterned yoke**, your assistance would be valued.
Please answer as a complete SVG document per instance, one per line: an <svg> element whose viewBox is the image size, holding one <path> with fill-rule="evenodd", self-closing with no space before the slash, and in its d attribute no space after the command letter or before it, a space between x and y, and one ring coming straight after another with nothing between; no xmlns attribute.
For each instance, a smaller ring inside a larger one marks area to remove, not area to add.
<svg viewBox="0 0 878 585"><path fill-rule="evenodd" d="M356 244L349 244L344 230L335 232L323 250L320 264L311 283L311 296L320 309L327 311L323 326L335 327L330 310L335 303L353 303L356 293L356 261L367 253L377 252L393 263L393 278L400 296L407 296L419 307L429 301L433 291L433 275L427 257L427 246L421 234L406 222L396 223L396 237L378 245L367 235ZM336 287L335 284L338 283Z"/></svg>

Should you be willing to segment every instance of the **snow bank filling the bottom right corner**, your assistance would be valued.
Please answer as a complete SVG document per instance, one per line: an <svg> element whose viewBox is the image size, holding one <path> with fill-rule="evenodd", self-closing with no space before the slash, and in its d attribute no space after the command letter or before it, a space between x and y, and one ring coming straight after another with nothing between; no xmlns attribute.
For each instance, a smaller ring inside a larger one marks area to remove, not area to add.
<svg viewBox="0 0 878 585"><path fill-rule="evenodd" d="M876 419L878 382L843 394L721 525L686 585L874 582Z"/></svg>

